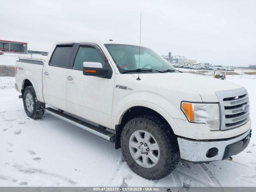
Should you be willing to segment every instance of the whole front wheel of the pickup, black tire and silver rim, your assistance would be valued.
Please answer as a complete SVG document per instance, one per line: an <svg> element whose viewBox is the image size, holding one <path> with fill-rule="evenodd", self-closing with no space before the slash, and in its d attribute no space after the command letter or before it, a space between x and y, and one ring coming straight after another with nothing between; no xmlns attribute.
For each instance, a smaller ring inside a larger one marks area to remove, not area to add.
<svg viewBox="0 0 256 192"><path fill-rule="evenodd" d="M128 166L150 180L170 174L180 158L176 136L166 121L155 116L128 121L121 134L121 148Z"/></svg>

